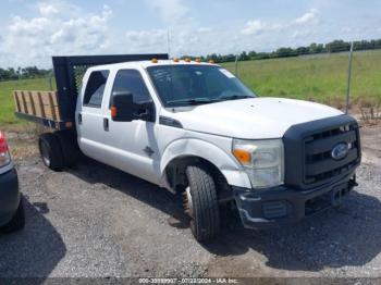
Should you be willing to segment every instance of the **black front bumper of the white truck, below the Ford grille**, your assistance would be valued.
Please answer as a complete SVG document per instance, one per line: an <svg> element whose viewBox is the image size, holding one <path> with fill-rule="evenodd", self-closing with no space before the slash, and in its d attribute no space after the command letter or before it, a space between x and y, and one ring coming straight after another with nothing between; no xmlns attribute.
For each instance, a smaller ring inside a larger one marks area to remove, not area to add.
<svg viewBox="0 0 381 285"><path fill-rule="evenodd" d="M267 228L299 222L306 216L339 206L357 186L354 173L330 185L309 190L286 186L253 190L233 187L242 223L247 228Z"/></svg>

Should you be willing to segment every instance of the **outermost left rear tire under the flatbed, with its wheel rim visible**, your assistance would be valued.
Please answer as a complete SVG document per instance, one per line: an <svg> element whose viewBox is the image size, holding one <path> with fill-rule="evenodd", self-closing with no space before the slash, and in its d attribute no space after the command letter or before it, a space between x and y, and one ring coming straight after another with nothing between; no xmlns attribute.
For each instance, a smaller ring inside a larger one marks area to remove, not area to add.
<svg viewBox="0 0 381 285"><path fill-rule="evenodd" d="M46 166L52 171L60 171L63 169L63 153L57 136L51 133L42 134L39 137L38 146L42 162Z"/></svg>

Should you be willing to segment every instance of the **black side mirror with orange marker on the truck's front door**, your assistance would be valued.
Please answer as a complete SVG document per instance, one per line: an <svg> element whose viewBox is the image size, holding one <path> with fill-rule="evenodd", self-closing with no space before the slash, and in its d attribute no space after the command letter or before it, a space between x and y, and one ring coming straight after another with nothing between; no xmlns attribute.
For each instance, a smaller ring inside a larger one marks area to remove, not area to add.
<svg viewBox="0 0 381 285"><path fill-rule="evenodd" d="M115 122L132 122L135 120L133 94L120 91L112 94L111 117Z"/></svg>

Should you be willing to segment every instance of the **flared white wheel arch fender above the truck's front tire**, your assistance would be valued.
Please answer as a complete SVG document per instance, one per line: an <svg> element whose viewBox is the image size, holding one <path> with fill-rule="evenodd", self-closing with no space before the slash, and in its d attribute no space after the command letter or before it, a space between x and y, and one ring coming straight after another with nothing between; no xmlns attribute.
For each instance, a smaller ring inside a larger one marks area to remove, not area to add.
<svg viewBox="0 0 381 285"><path fill-rule="evenodd" d="M231 186L251 188L246 172L241 168L233 156L229 156L218 146L196 138L177 139L171 142L161 157L160 171L162 177L167 165L181 157L199 157L218 168Z"/></svg>

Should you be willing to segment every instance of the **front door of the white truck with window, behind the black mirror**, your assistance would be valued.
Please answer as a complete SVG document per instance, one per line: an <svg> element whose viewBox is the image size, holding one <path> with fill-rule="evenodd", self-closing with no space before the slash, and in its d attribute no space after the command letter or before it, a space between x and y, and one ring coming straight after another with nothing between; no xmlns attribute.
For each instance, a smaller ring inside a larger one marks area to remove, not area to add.
<svg viewBox="0 0 381 285"><path fill-rule="evenodd" d="M113 86L110 89L109 108L105 110L108 129L103 134L108 145L107 163L158 183L160 154L156 139L155 119L150 120L151 122L149 120L114 122L111 119L110 107L114 91L132 92L136 104L152 102L140 72L135 69L116 71Z"/></svg>

